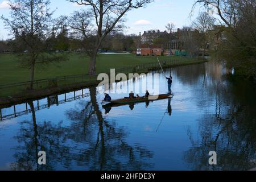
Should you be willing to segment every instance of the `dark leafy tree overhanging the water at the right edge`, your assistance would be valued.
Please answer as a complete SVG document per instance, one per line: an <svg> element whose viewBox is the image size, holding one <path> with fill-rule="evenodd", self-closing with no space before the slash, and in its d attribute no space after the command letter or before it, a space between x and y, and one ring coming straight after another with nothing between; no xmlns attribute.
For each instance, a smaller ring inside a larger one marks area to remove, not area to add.
<svg viewBox="0 0 256 182"><path fill-rule="evenodd" d="M207 10L217 11L221 23L225 24L225 27L221 28L225 41L221 42L222 48L218 56L227 60L228 67L234 68L237 75L256 80L256 1L197 0L192 12L197 4Z"/></svg>

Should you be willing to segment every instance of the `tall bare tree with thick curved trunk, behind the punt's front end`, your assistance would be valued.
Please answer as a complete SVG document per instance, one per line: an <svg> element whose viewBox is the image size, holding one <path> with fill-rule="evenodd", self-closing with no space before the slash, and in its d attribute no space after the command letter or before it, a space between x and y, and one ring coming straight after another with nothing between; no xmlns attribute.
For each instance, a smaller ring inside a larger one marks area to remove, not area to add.
<svg viewBox="0 0 256 182"><path fill-rule="evenodd" d="M89 74L96 72L96 55L105 37L113 30L122 27L122 18L131 9L139 9L144 5L151 3L153 0L67 0L77 5L88 6L92 14L96 32L94 33L95 41L89 53Z"/></svg>

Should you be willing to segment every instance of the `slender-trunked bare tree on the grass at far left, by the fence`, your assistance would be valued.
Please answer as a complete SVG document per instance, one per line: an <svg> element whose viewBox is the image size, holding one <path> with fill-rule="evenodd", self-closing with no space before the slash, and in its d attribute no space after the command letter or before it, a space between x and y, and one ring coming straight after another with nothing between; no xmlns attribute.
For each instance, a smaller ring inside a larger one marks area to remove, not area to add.
<svg viewBox="0 0 256 182"><path fill-rule="evenodd" d="M6 27L15 35L16 47L21 52L18 57L22 65L30 69L30 89L33 89L35 65L47 64L60 60L49 54L44 54L46 40L52 29L52 14L49 0L9 0L10 18L1 18Z"/></svg>

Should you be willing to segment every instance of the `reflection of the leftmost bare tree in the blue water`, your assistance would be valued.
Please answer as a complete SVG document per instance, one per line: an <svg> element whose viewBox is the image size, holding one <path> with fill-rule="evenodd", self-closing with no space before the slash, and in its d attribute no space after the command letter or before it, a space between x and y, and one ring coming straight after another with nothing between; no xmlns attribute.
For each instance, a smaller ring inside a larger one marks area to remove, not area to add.
<svg viewBox="0 0 256 182"><path fill-rule="evenodd" d="M32 121L23 121L20 123L20 131L15 139L19 146L15 147L14 158L15 163L11 164L13 170L52 170L56 167L56 162L62 162L65 166L69 166L71 158L66 154L70 148L65 146L65 133L67 129L51 122L38 124L36 122L36 114L34 104L30 105L32 113ZM47 166L38 165L38 152L47 152ZM61 159L61 160L60 160Z"/></svg>

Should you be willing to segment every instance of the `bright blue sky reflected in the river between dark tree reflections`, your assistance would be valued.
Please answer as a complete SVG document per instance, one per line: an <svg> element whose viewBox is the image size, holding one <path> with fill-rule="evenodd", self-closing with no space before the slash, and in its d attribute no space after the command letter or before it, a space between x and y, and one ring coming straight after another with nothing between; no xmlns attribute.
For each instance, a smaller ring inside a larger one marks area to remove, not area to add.
<svg viewBox="0 0 256 182"><path fill-rule="evenodd" d="M190 138L195 140L200 138L199 119L203 118L204 115L210 116L216 113L217 97L214 93L218 88L216 84L218 85L218 82L222 80L221 74L224 72L225 69L212 64L207 64L205 67L204 65L192 65L188 66L187 69L185 67L184 69L180 69L180 67L167 69L166 76L172 73L174 78L172 90L175 96L171 100L171 114L167 112L168 99L150 102L148 106L145 102L138 103L134 105L133 110L130 109L129 105L112 107L108 114L105 114L105 110L101 107L101 101L104 98L102 94L97 95L97 101L105 121L114 126L115 129L122 129L127 133L126 143L135 148L144 147L152 152L152 158L143 160L153 164L153 166L145 167L145 169L189 170L192 168L184 161L184 152L193 147ZM137 82L128 81L129 86L135 85L135 87L138 87L140 84L138 80L144 82L146 77L137 78ZM115 87L116 84L113 84L113 86ZM101 92L102 89L104 88L100 87L97 91ZM139 94L143 95L144 90L146 88L142 88ZM76 100L69 100L74 96L73 92L67 93L66 99L68 102L63 102L65 95L61 94L58 97L58 106L51 105L47 107L47 99L40 100L39 105L44 105L40 110L37 110L38 102L34 101L37 124L42 125L44 122L51 122L57 125L62 121L61 126L69 128L74 123L79 123L69 120L67 111L73 109L82 113L83 105L90 102L89 89L79 90L75 92L75 95L81 96L82 93L86 97L76 98ZM159 77L159 93L167 93L167 82L162 73ZM115 99L125 97L127 93L112 93L110 95ZM23 111L24 108L26 108L26 105L18 105L16 106L16 112ZM225 113L225 111L223 112ZM13 107L2 110L3 116L12 113ZM20 132L20 123L26 120L31 121L31 118L32 114L28 113L0 122L0 169L8 169L8 165L15 162L13 156L16 151L14 148L19 143L14 137ZM91 127L92 131L95 131L90 139L93 143L97 140L98 126L92 125ZM72 131L68 132L72 133ZM74 154L83 154L84 148L88 148L91 144L88 140L86 141L75 142L67 139L64 144L73 148L72 152ZM118 155L117 158L123 162L128 160L125 155ZM72 160L71 169L90 169L90 165L92 164ZM55 168L67 169L60 162L56 162Z"/></svg>

